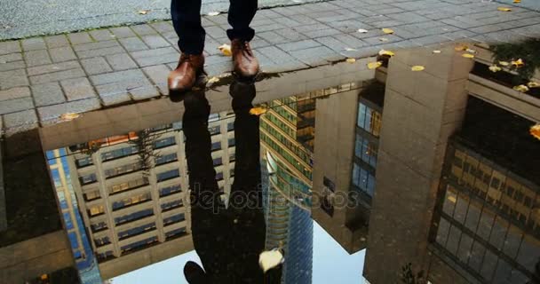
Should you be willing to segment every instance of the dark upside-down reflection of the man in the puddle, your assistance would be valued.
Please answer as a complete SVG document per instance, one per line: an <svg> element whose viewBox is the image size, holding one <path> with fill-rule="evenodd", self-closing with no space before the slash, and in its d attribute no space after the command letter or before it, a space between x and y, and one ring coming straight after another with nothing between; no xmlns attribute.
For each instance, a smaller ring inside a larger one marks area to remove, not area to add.
<svg viewBox="0 0 540 284"><path fill-rule="evenodd" d="M210 105L204 93L192 92L184 99L183 129L189 170L191 218L195 251L203 268L194 262L184 266L189 283L277 283L279 269L258 267L265 248L266 225L260 188L258 116L250 114L255 98L253 83L234 82L234 184L225 209L211 158L208 130Z"/></svg>

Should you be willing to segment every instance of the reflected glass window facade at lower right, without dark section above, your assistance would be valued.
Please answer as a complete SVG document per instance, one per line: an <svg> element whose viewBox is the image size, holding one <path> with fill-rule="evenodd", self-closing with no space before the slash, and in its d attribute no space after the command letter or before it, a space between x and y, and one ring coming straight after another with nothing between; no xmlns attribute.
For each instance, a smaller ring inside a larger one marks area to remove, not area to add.
<svg viewBox="0 0 540 284"><path fill-rule="evenodd" d="M449 146L435 247L488 283L527 283L540 256L538 185L477 154Z"/></svg>

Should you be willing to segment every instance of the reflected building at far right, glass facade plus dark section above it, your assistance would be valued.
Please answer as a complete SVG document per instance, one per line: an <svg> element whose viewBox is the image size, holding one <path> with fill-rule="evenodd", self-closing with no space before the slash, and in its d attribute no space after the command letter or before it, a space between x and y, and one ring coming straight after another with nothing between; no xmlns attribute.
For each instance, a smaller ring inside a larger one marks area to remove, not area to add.
<svg viewBox="0 0 540 284"><path fill-rule="evenodd" d="M531 124L470 99L464 130L447 150L433 247L470 279L527 283L535 272L540 178L530 170L540 160Z"/></svg>

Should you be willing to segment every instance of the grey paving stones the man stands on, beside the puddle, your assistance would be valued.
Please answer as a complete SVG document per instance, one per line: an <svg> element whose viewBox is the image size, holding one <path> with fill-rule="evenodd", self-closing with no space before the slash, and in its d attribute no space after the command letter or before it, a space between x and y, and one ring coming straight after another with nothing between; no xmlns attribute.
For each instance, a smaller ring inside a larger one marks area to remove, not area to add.
<svg viewBox="0 0 540 284"><path fill-rule="evenodd" d="M266 9L252 27L252 47L267 73L372 56L380 49L449 41L507 43L540 37L540 13L468 0L337 0ZM204 17L206 71L232 67L226 14ZM363 28L367 33L359 33ZM392 28L385 35L381 28ZM167 95L177 64L170 21L0 43L0 114L10 133L55 122L61 114Z"/></svg>

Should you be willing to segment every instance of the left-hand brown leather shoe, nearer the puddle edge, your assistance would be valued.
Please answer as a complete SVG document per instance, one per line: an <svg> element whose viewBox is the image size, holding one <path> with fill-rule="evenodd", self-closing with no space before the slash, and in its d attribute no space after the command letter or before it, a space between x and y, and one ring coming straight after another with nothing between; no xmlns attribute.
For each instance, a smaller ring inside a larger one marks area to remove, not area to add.
<svg viewBox="0 0 540 284"><path fill-rule="evenodd" d="M182 53L179 65L172 70L167 78L169 93L177 93L191 89L197 76L203 72L204 55Z"/></svg>

